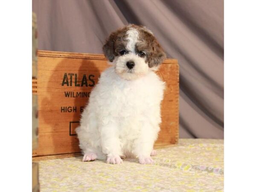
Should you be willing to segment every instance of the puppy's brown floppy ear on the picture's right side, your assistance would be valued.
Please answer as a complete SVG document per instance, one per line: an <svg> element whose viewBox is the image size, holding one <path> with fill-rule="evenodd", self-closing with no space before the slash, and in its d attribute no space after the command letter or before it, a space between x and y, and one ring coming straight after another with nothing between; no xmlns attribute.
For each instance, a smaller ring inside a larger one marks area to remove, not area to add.
<svg viewBox="0 0 256 192"><path fill-rule="evenodd" d="M148 67L157 67L163 61L166 59L166 54L163 51L163 48L160 46L160 44L155 41L152 46L152 52L150 54L150 57L148 59Z"/></svg>

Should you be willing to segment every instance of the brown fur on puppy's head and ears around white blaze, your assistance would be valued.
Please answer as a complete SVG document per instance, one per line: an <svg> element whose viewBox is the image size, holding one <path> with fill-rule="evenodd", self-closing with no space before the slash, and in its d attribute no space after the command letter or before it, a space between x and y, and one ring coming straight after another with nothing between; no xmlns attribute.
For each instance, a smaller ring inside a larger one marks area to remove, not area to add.
<svg viewBox="0 0 256 192"><path fill-rule="evenodd" d="M144 26L134 24L130 24L111 33L103 46L105 57L112 62L121 50L126 49L128 43L126 32L130 28L135 28L139 32L139 42L136 44L136 52L145 51L147 53L146 62L148 62L148 67L155 67L161 64L166 58L166 54L157 42L157 39Z"/></svg>

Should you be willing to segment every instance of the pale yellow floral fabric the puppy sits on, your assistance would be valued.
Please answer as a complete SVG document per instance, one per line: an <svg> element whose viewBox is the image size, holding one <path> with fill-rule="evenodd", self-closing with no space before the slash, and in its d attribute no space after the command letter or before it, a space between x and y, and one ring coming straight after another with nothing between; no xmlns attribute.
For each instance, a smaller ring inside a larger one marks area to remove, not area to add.
<svg viewBox="0 0 256 192"><path fill-rule="evenodd" d="M221 192L224 141L180 139L157 149L154 165L82 162L82 157L39 161L41 192Z"/></svg>

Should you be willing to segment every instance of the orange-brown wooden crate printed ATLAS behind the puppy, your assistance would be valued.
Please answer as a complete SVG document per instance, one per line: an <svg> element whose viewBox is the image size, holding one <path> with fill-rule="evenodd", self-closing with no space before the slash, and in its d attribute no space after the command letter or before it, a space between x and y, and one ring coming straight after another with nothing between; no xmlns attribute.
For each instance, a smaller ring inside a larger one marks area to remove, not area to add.
<svg viewBox="0 0 256 192"><path fill-rule="evenodd" d="M38 148L33 159L71 157L80 153L75 128L100 73L109 65L104 55L38 51ZM155 148L178 142L179 66L166 59L157 74L166 81L162 124ZM47 156L47 157L45 157Z"/></svg>

